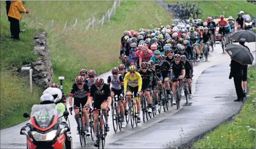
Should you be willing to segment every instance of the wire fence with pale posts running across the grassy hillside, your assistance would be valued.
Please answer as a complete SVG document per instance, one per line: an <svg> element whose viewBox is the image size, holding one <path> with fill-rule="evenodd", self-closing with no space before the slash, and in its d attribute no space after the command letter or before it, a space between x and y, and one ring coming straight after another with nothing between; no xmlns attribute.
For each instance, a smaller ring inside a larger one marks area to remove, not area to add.
<svg viewBox="0 0 256 149"><path fill-rule="evenodd" d="M112 8L108 9L106 14L102 15L102 18L100 20L97 20L95 17L89 18L87 20L79 20L79 18L76 18L74 22L66 22L65 24L58 22L58 20L50 20L45 21L42 18L36 17L35 20L24 20L27 24L35 25L37 28L43 27L44 29L49 28L58 28L65 30L77 30L77 29L89 29L89 28L100 28L105 23L110 22L111 16L116 14L117 8L121 5L121 0L114 1L114 4Z"/></svg>

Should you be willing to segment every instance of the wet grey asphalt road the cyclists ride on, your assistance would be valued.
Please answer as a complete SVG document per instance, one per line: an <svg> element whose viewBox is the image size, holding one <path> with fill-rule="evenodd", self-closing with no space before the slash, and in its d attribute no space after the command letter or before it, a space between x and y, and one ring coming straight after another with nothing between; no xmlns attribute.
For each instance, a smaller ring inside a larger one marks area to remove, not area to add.
<svg viewBox="0 0 256 149"><path fill-rule="evenodd" d="M255 42L246 43L255 58ZM255 60L254 60L255 61ZM208 62L204 60L194 66L192 81L192 99L185 104L181 99L181 108L169 107L169 111L157 114L146 123L132 129L130 124L118 133L114 133L112 118L109 118L110 131L106 137L106 148L163 148L167 145L179 146L200 135L216 125L219 125L241 108L241 102L236 99L233 80L229 80L229 55L219 44L211 52ZM102 74L107 79L110 72ZM110 114L111 117L111 114ZM81 148L79 135L75 134L76 123L73 115L69 115L73 148ZM19 135L21 123L0 131L0 148L26 148L26 137ZM95 148L91 138L83 148Z"/></svg>

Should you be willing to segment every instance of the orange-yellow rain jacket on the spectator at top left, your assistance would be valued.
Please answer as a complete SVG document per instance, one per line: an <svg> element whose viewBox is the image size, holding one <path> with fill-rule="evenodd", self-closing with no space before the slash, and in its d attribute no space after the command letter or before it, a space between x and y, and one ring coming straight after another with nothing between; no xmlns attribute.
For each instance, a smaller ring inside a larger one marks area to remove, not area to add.
<svg viewBox="0 0 256 149"><path fill-rule="evenodd" d="M22 13L25 13L25 12L27 12L27 10L25 10L21 0L11 1L8 16L15 18L17 20L21 20Z"/></svg>

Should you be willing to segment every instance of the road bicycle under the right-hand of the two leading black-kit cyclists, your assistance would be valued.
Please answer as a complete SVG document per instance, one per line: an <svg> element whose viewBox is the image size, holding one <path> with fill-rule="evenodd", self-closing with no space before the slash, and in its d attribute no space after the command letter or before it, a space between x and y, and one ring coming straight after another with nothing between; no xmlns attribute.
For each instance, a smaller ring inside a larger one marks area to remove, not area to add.
<svg viewBox="0 0 256 149"><path fill-rule="evenodd" d="M102 111L106 111L106 110L94 109L93 111L99 111L99 118L98 118L98 124L97 124L98 149L100 149L100 146L102 146L102 149L104 149L107 131L106 131L106 126L105 126L105 121L102 118Z"/></svg>

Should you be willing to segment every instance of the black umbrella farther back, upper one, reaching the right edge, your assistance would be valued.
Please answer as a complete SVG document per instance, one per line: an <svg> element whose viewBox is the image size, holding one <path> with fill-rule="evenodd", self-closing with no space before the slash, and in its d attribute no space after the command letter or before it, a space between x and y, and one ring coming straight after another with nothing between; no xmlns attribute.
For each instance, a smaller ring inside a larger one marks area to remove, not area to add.
<svg viewBox="0 0 256 149"><path fill-rule="evenodd" d="M250 30L239 30L232 34L230 38L236 41L255 42L256 34Z"/></svg>

